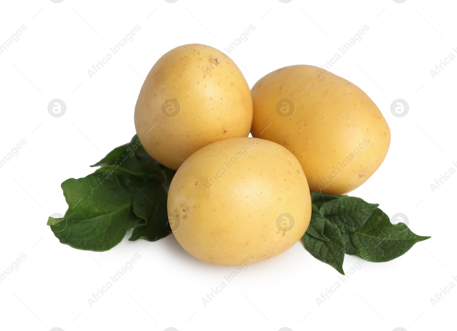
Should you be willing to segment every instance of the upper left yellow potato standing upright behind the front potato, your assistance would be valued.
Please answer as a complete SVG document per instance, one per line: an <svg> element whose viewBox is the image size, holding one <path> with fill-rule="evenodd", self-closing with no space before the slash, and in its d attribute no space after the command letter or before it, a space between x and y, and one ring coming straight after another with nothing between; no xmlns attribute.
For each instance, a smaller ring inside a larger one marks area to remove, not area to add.
<svg viewBox="0 0 457 331"><path fill-rule="evenodd" d="M247 137L252 99L243 74L227 55L206 45L170 50L149 72L135 107L144 149L177 170L213 142Z"/></svg>

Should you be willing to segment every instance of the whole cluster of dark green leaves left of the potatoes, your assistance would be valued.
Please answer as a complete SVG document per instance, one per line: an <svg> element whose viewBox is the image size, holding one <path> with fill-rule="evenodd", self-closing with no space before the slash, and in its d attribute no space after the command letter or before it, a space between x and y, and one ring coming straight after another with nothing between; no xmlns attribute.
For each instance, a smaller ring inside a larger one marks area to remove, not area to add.
<svg viewBox="0 0 457 331"><path fill-rule="evenodd" d="M132 228L129 240L154 241L170 234L167 189L175 171L150 157L136 135L91 166L100 168L62 183L69 209L64 218L48 219L62 243L106 251Z"/></svg>

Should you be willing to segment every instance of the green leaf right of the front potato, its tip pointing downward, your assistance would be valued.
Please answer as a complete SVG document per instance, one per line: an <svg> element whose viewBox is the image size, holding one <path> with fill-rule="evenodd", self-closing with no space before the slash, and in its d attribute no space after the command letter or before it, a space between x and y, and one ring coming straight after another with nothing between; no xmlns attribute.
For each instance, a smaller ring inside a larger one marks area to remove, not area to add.
<svg viewBox="0 0 457 331"><path fill-rule="evenodd" d="M341 237L341 232L338 226L325 220L323 235L329 241L319 240L305 233L303 242L305 249L316 259L325 262L334 267L338 272L344 275L343 260L345 254L345 243Z"/></svg>

